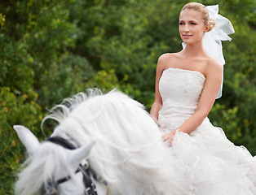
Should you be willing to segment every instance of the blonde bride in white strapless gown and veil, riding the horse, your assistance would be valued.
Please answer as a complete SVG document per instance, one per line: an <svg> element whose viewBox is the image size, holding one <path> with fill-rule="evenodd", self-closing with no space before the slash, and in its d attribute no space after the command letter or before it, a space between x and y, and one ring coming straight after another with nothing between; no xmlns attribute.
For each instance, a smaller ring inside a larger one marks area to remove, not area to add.
<svg viewBox="0 0 256 195"><path fill-rule="evenodd" d="M231 41L227 34L232 32L230 21L218 15L218 5L188 3L179 15L183 50L158 59L150 114L184 171L188 194L256 194L256 159L207 118L221 97L221 41Z"/></svg>

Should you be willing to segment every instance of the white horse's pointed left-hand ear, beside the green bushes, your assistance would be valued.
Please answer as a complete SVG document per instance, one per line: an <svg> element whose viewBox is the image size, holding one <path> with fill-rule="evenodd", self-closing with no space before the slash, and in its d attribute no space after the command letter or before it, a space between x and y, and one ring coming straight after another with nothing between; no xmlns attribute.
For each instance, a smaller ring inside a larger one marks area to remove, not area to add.
<svg viewBox="0 0 256 195"><path fill-rule="evenodd" d="M20 141L25 146L29 155L33 155L34 150L40 145L38 138L33 135L33 132L29 128L25 128L22 125L14 125L13 128L17 132Z"/></svg>

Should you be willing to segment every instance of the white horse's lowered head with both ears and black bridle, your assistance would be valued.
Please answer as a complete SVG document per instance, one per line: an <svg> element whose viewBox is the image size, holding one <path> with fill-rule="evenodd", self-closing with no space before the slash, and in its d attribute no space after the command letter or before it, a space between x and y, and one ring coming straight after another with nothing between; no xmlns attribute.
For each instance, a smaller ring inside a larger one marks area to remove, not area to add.
<svg viewBox="0 0 256 195"><path fill-rule="evenodd" d="M86 180L95 187L86 161L94 141L75 149L60 137L50 137L40 143L28 128L21 125L14 128L29 154L29 166L20 173L23 179L17 182L16 192L26 195L97 194L86 192L90 188L85 186Z"/></svg>

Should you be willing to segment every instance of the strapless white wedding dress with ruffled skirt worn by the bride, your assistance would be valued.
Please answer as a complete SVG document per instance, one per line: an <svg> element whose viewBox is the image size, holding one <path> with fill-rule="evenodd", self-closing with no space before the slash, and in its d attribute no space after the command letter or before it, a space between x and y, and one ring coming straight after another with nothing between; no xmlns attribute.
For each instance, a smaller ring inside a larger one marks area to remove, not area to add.
<svg viewBox="0 0 256 195"><path fill-rule="evenodd" d="M172 67L163 72L158 120L166 126L165 132L179 128L194 113L204 84L201 72ZM190 135L176 132L170 154L177 159L189 195L256 194L256 159L208 118Z"/></svg>

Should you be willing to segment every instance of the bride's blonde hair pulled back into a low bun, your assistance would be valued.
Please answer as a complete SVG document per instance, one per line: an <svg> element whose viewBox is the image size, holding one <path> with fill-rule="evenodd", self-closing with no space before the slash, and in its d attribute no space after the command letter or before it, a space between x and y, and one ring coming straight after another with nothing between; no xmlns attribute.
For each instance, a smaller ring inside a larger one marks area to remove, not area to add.
<svg viewBox="0 0 256 195"><path fill-rule="evenodd" d="M205 22L205 25L210 24L210 28L208 31L210 31L214 28L215 21L213 19L210 19L209 11L207 10L206 6L204 6L203 4L201 4L199 2L189 2L188 4L183 6L181 11L184 11L186 9L199 11L201 13L202 20L204 20L204 22Z"/></svg>

